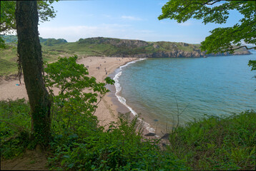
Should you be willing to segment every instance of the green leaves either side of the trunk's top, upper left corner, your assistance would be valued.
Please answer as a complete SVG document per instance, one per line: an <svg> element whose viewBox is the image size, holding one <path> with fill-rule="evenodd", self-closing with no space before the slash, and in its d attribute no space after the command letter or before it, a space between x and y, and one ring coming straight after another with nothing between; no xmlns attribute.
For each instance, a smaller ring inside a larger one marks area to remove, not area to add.
<svg viewBox="0 0 256 171"><path fill-rule="evenodd" d="M54 11L53 6L51 6L53 2L53 0L37 1L37 9L39 12L39 19L41 22L49 21L49 18L54 18L56 16L56 11ZM16 31L15 9L16 1L1 1L0 32L2 34L14 33L14 31ZM4 40L0 37L0 48L4 47Z"/></svg>

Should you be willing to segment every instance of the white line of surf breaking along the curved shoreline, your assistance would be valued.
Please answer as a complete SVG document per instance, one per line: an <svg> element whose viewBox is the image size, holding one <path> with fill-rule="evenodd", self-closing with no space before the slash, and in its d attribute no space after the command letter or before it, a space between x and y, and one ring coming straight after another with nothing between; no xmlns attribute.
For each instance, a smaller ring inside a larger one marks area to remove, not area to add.
<svg viewBox="0 0 256 171"><path fill-rule="evenodd" d="M125 105L130 111L131 113L136 116L138 115L129 105L127 105L127 100L125 98L123 98L122 96L118 95L118 93L122 90L122 87L121 85L119 84L119 76L122 75L122 68L126 67L126 66L129 66L130 64L132 63L136 63L137 61L142 61L142 60L145 60L147 58L139 58L138 60L136 61L132 61L132 62L129 62L129 63L126 63L124 66L120 66L119 67L119 72L117 72L117 74L114 76L113 80L114 80L114 86L116 88L116 93L115 95L117 96L117 99L119 100L120 103L122 103L123 105ZM142 121L142 119L139 118L139 120ZM154 133L155 130L154 128L151 128L149 123L146 123L143 121L143 124L144 124L144 127L149 131L149 133Z"/></svg>

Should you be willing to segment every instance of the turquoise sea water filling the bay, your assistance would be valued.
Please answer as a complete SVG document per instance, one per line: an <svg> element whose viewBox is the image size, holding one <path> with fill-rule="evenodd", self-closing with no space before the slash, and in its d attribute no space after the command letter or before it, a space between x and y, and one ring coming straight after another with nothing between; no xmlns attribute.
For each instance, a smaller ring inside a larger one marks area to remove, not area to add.
<svg viewBox="0 0 256 171"><path fill-rule="evenodd" d="M204 115L256 110L256 75L249 56L147 58L122 67L118 95L154 130ZM177 109L177 107L179 109Z"/></svg>

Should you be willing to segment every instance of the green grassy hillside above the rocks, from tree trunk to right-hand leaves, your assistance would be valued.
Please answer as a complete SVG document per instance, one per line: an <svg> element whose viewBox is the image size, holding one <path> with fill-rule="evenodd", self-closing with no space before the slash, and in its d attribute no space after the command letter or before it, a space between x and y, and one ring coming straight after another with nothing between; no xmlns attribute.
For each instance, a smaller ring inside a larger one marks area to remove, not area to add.
<svg viewBox="0 0 256 171"><path fill-rule="evenodd" d="M175 42L147 42L139 40L125 40L119 38L80 38L75 43L43 46L46 51L67 51L84 56L130 56L143 53L157 53L159 51L200 51L200 45Z"/></svg>

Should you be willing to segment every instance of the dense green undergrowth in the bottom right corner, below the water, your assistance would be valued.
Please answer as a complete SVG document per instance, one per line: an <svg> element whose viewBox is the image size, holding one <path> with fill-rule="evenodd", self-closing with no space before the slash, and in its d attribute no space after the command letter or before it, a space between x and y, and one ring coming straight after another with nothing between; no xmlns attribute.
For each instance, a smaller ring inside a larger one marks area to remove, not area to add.
<svg viewBox="0 0 256 171"><path fill-rule="evenodd" d="M256 113L209 116L177 128L167 150L192 170L255 170Z"/></svg>

